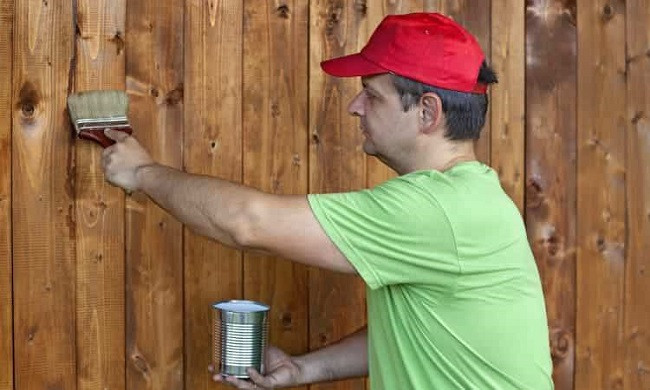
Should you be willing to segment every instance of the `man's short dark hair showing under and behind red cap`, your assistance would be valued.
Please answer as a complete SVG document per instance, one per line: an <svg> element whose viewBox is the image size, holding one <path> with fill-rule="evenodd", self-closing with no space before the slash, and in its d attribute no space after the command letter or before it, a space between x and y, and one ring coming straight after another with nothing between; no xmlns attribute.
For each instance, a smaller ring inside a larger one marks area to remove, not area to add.
<svg viewBox="0 0 650 390"><path fill-rule="evenodd" d="M486 94L451 91L423 84L407 77L391 74L393 85L402 100L402 108L408 111L416 105L422 95L433 92L440 96L442 111L447 118L447 133L451 140L478 139L485 124L485 114L488 108ZM478 74L478 82L493 84L497 76L483 61Z"/></svg>

